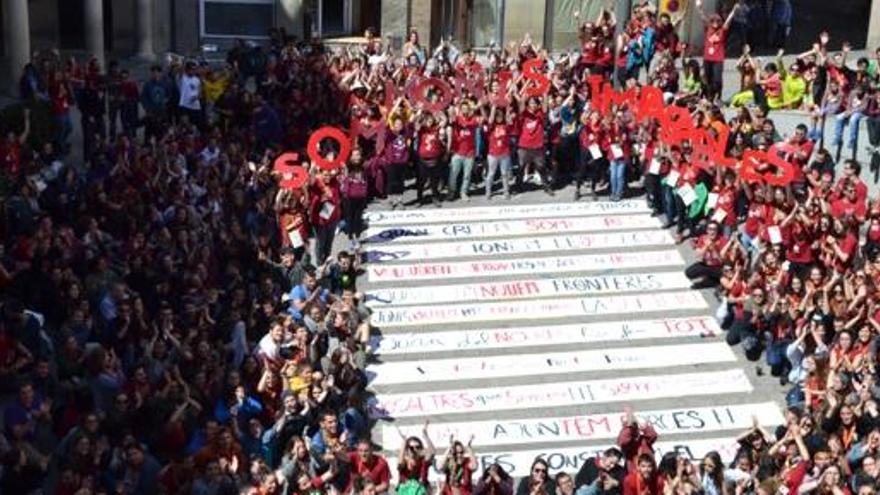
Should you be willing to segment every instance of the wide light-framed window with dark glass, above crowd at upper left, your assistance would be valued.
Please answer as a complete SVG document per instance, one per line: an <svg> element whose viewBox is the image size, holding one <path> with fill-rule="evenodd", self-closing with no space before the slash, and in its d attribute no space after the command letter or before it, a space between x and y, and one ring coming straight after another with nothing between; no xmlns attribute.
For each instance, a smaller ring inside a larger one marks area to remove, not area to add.
<svg viewBox="0 0 880 495"><path fill-rule="evenodd" d="M202 37L266 38L275 0L201 0Z"/></svg>

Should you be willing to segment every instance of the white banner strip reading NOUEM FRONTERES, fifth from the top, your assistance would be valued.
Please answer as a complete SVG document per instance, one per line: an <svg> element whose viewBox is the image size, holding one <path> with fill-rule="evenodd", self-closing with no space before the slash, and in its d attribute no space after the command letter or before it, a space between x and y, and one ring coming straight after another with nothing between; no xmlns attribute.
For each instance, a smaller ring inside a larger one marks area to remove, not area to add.
<svg viewBox="0 0 880 495"><path fill-rule="evenodd" d="M377 307L457 301L509 301L560 296L597 296L601 294L686 289L690 286L690 279L682 271L594 275L376 289L367 292L366 305Z"/></svg>

